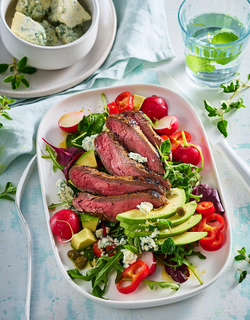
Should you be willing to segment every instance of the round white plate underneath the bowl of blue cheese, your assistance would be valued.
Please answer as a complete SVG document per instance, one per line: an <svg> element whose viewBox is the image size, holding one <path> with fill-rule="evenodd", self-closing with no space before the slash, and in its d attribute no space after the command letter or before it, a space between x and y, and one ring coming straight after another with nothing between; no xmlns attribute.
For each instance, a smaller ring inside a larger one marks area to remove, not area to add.
<svg viewBox="0 0 250 320"><path fill-rule="evenodd" d="M37 70L27 75L30 87L20 86L12 90L10 83L3 79L10 73L0 74L0 95L12 98L44 97L69 89L91 76L106 60L111 51L116 34L116 12L112 0L98 0L100 18L96 42L86 57L74 65L61 70ZM0 63L11 63L13 57L6 50L0 38Z"/></svg>

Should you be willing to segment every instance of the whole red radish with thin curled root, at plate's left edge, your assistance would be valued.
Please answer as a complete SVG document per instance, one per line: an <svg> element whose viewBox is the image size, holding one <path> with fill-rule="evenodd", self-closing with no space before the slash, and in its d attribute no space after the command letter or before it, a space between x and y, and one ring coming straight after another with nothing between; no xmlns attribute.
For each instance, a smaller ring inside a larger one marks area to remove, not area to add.
<svg viewBox="0 0 250 320"><path fill-rule="evenodd" d="M80 231L80 220L74 211L63 209L56 212L51 218L50 228L60 242L68 242L75 233ZM66 241L61 239L66 239Z"/></svg>

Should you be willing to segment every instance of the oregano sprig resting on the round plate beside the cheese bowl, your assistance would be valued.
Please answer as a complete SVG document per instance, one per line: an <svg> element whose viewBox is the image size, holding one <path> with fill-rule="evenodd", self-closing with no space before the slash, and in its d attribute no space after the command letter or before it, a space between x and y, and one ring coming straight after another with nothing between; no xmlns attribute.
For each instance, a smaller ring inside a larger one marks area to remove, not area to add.
<svg viewBox="0 0 250 320"><path fill-rule="evenodd" d="M0 63L0 73L5 72L10 67L10 72L14 72L13 75L7 76L4 78L4 82L10 82L12 89L16 89L22 83L26 88L29 88L29 82L25 79L25 73L31 74L37 71L36 68L27 66L27 57L23 57L16 63L15 58L13 57L12 63ZM18 74L20 73L20 74Z"/></svg>

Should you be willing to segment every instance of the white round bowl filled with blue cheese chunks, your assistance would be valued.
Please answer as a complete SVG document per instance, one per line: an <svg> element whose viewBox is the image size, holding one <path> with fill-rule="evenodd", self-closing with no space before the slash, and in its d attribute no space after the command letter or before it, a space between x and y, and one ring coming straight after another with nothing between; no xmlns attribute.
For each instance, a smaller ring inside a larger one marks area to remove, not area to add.
<svg viewBox="0 0 250 320"><path fill-rule="evenodd" d="M55 70L84 58L98 30L97 0L2 0L0 35L16 59Z"/></svg>

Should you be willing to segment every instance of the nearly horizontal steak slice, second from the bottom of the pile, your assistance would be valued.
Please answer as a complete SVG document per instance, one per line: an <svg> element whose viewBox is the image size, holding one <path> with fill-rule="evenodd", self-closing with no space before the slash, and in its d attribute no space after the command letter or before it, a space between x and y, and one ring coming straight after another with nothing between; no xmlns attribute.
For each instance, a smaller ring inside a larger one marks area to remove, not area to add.
<svg viewBox="0 0 250 320"><path fill-rule="evenodd" d="M100 196L119 196L129 192L152 189L165 195L159 181L149 177L113 177L92 167L74 165L69 178L76 188Z"/></svg>

